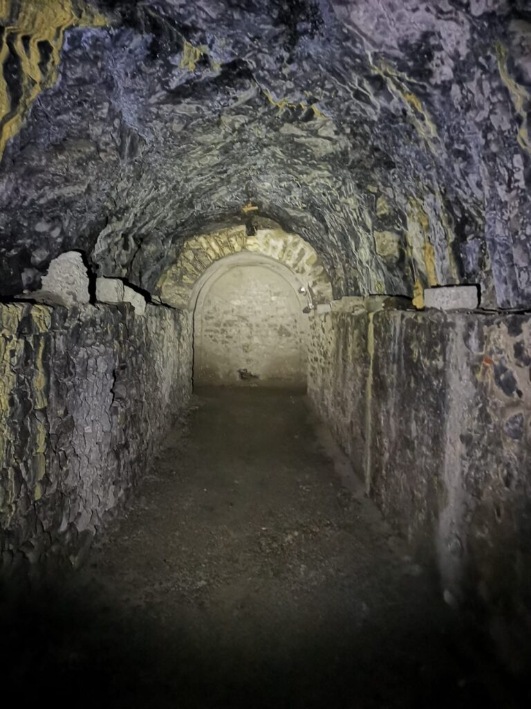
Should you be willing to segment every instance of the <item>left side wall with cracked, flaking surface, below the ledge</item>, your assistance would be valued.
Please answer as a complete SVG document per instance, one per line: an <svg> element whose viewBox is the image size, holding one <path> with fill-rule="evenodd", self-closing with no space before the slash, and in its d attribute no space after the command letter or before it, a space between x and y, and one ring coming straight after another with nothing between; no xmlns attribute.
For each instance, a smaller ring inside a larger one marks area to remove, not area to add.
<svg viewBox="0 0 531 709"><path fill-rule="evenodd" d="M191 382L189 318L0 305L0 551L72 562L149 469Z"/></svg>

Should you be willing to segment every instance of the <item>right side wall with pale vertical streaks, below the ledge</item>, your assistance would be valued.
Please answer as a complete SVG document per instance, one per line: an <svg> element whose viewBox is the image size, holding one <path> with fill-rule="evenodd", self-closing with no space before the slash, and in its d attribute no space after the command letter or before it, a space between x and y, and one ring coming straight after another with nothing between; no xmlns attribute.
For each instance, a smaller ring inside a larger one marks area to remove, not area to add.
<svg viewBox="0 0 531 709"><path fill-rule="evenodd" d="M451 604L518 664L531 623L531 316L314 318L309 394Z"/></svg>

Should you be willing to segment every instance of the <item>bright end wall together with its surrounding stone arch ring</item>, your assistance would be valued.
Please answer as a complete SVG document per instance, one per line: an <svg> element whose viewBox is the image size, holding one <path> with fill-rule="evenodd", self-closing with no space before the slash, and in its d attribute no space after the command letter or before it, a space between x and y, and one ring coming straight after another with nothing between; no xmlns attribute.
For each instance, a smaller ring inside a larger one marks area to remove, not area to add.
<svg viewBox="0 0 531 709"><path fill-rule="evenodd" d="M306 389L309 313L333 299L309 242L262 219L189 238L154 294L190 313L193 384Z"/></svg>

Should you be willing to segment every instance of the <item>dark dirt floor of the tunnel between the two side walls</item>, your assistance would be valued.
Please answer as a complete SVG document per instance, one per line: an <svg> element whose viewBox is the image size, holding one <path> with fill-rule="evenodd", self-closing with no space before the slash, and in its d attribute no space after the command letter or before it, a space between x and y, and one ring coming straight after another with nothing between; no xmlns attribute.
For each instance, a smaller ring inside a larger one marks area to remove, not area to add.
<svg viewBox="0 0 531 709"><path fill-rule="evenodd" d="M3 686L28 703L525 705L298 393L196 395L84 569L12 609Z"/></svg>

